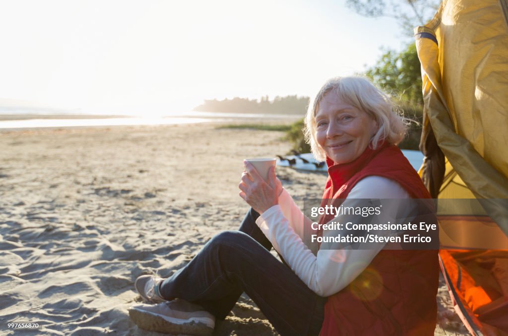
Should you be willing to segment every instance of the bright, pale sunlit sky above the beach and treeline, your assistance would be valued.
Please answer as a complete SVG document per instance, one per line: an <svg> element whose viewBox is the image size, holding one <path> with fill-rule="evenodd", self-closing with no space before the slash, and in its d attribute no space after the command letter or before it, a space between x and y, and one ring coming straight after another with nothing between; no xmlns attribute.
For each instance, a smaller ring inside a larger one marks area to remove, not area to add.
<svg viewBox="0 0 508 336"><path fill-rule="evenodd" d="M0 0L0 103L164 114L204 99L311 96L401 49L345 0Z"/></svg>

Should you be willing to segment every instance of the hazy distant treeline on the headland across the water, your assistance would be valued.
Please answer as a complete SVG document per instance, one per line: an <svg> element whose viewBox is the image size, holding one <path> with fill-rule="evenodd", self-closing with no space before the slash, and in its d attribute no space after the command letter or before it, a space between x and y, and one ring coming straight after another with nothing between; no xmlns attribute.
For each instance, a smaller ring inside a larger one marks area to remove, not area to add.
<svg viewBox="0 0 508 336"><path fill-rule="evenodd" d="M234 113L270 113L270 114L300 114L304 115L309 103L308 97L276 96L272 101L268 96L260 100L238 98L224 100L205 100L194 111L206 112L234 112Z"/></svg>

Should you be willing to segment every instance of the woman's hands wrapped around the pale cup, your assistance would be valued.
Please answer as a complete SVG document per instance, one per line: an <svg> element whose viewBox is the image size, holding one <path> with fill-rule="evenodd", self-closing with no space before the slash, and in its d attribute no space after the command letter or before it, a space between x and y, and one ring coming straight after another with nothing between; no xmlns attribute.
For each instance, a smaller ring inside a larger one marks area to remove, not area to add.
<svg viewBox="0 0 508 336"><path fill-rule="evenodd" d="M267 183L252 164L247 161L244 161L243 164L245 170L238 185L241 190L240 197L259 213L263 213L272 206L279 204L282 184L275 176L275 166L270 167L268 171L269 183Z"/></svg>

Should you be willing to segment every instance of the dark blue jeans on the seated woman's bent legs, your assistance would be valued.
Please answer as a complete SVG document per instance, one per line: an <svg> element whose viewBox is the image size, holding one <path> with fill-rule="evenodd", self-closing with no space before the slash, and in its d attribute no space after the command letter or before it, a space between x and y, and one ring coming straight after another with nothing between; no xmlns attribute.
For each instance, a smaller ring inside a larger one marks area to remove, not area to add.
<svg viewBox="0 0 508 336"><path fill-rule="evenodd" d="M281 335L317 335L326 298L312 292L269 251L272 244L250 209L239 231L210 239L185 267L161 284L166 299L198 303L224 319L245 292Z"/></svg>

